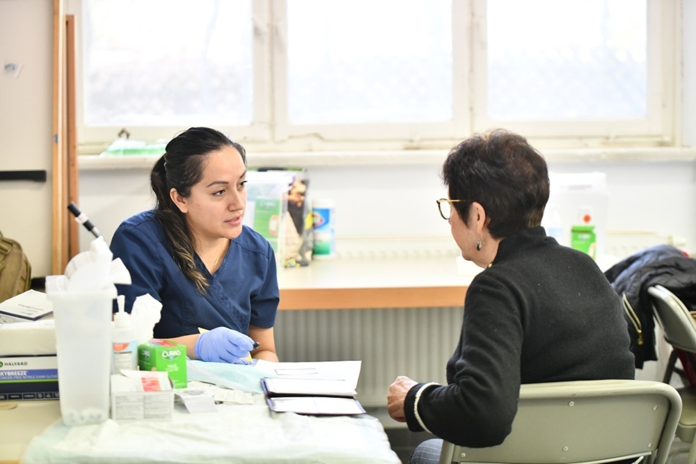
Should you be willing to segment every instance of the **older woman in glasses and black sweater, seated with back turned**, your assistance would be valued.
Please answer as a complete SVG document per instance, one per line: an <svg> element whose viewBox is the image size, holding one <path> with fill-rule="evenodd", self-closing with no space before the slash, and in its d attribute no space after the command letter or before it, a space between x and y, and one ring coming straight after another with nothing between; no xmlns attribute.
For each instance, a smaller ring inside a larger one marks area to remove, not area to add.
<svg viewBox="0 0 696 464"><path fill-rule="evenodd" d="M448 385L397 377L389 415L491 447L510 433L523 383L634 378L619 296L590 256L540 226L549 182L539 152L509 131L475 135L452 149L442 177L440 213L461 256L484 270L466 292ZM423 442L411 463L437 463L441 445Z"/></svg>

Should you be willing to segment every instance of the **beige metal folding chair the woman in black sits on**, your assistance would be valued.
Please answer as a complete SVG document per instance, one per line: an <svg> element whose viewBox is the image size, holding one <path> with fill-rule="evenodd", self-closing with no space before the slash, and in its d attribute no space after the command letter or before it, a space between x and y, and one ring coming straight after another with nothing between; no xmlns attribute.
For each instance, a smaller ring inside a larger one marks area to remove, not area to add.
<svg viewBox="0 0 696 464"><path fill-rule="evenodd" d="M663 464L681 399L654 381L574 381L522 385L512 432L502 445L443 442L440 464L606 463L646 456Z"/></svg>

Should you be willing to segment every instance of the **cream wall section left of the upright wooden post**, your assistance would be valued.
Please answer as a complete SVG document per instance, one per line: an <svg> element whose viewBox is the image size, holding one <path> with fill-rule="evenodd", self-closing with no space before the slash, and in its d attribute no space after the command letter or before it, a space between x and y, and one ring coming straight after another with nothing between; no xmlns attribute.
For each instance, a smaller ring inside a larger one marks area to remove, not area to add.
<svg viewBox="0 0 696 464"><path fill-rule="evenodd" d="M53 1L0 0L0 170L47 170L45 183L0 182L0 230L22 244L33 275L51 270Z"/></svg>

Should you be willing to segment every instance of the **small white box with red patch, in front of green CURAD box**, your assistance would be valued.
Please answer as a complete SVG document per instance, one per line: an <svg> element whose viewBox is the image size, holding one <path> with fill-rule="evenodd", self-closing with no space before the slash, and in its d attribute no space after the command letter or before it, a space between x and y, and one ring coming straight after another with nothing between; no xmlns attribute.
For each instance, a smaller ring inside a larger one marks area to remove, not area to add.
<svg viewBox="0 0 696 464"><path fill-rule="evenodd" d="M174 390L166 372L122 369L111 376L111 419L171 420L173 409Z"/></svg>

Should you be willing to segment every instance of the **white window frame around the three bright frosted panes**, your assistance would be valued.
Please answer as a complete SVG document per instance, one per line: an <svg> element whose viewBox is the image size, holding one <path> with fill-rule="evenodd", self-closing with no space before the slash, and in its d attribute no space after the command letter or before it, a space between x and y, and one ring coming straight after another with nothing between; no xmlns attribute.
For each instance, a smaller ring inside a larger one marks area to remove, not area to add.
<svg viewBox="0 0 696 464"><path fill-rule="evenodd" d="M64 0L81 30L81 0ZM486 1L452 0L453 119L438 123L290 125L287 111L287 0L253 0L253 124L219 126L256 152L332 152L345 150L442 150L491 127L527 136L539 148L665 147L679 140L681 121L681 27L679 0L647 0L647 117L626 120L534 121L487 117L485 37ZM461 21L469 20L463 26ZM81 153L96 154L121 127L84 123L81 40L77 50L78 135ZM186 127L127 127L145 141L173 136Z"/></svg>

